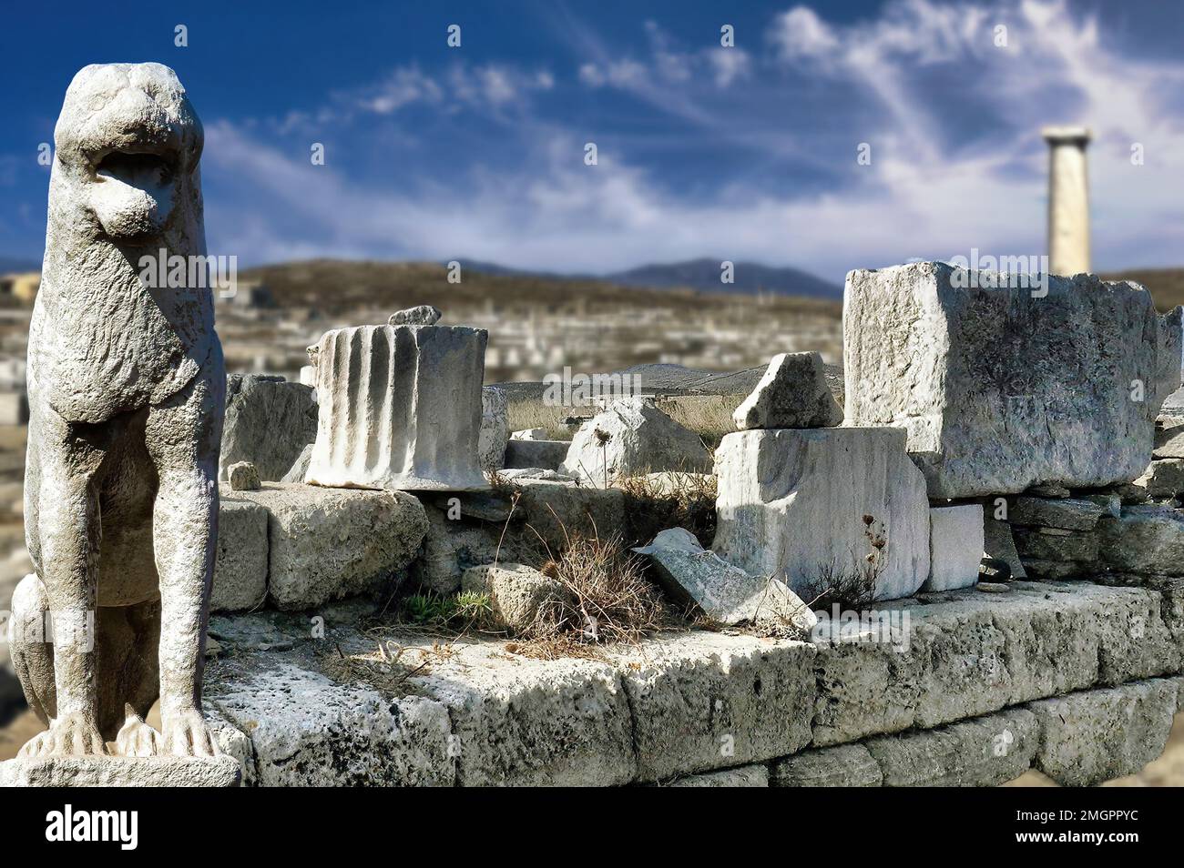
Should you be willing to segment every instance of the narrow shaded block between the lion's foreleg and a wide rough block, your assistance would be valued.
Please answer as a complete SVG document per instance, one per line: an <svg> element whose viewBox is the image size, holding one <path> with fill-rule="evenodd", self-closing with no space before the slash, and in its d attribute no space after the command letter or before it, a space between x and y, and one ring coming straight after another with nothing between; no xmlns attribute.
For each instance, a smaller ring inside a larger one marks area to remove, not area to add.
<svg viewBox="0 0 1184 868"><path fill-rule="evenodd" d="M243 611L268 595L268 511L219 486L218 553L211 611Z"/></svg>

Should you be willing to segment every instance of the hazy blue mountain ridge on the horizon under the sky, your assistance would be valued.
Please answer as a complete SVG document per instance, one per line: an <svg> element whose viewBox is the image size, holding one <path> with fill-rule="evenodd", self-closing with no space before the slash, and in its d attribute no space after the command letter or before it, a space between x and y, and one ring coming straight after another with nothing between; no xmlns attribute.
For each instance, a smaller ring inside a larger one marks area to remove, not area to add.
<svg viewBox="0 0 1184 868"><path fill-rule="evenodd" d="M609 274L561 274L546 271L510 268L496 263L465 260L461 263L471 271L503 277L534 277L549 280L596 280L618 286L641 286L652 290L697 290L700 292L733 294L738 292L772 292L779 296L804 296L807 298L837 299L843 287L815 277L800 268L777 268L759 263L734 263L733 283L720 281L719 259L688 259L667 265L642 265L628 271Z"/></svg>

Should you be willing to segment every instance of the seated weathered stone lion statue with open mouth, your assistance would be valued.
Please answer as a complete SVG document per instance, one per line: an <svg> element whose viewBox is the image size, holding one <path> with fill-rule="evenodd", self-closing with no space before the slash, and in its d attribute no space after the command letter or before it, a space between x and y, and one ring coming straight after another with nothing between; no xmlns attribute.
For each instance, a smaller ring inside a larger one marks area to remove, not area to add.
<svg viewBox="0 0 1184 868"><path fill-rule="evenodd" d="M213 756L201 674L226 376L204 281L143 279L146 257L206 261L201 124L167 66L94 65L70 84L54 143L28 336L37 572L9 624L49 728L21 756L103 754L112 740L121 754ZM143 720L157 697L160 732Z"/></svg>

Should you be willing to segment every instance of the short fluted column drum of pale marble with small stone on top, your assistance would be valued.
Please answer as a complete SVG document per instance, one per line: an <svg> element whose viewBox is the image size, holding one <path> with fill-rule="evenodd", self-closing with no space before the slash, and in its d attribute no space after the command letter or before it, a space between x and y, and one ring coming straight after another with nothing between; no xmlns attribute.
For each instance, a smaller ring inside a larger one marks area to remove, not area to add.
<svg viewBox="0 0 1184 868"><path fill-rule="evenodd" d="M477 460L484 329L358 325L311 351L320 400L305 482L345 488L485 488Z"/></svg>

